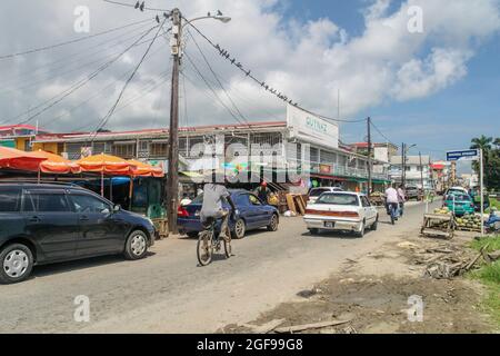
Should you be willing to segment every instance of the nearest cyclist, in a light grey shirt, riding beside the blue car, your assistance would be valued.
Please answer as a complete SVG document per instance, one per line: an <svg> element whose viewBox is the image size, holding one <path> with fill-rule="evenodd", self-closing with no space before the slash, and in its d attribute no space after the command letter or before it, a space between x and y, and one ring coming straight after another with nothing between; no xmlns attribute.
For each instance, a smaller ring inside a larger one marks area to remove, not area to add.
<svg viewBox="0 0 500 356"><path fill-rule="evenodd" d="M212 175L210 178L217 178ZM219 177L220 178L220 177ZM231 206L231 212L222 207L222 201L226 200ZM220 219L222 224L220 228L219 238L223 238L226 241L230 240L229 233L229 218L236 219L237 208L231 199L231 194L224 186L224 179L210 179L203 187L203 205L200 211L200 218L203 226L210 218Z"/></svg>

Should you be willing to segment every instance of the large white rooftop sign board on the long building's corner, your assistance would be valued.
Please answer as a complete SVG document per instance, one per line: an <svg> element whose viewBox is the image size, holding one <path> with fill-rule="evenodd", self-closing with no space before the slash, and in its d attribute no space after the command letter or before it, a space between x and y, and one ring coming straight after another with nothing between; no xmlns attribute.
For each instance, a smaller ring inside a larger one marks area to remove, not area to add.
<svg viewBox="0 0 500 356"><path fill-rule="evenodd" d="M330 148L339 148L339 127L294 106L287 106L287 126L291 138Z"/></svg>

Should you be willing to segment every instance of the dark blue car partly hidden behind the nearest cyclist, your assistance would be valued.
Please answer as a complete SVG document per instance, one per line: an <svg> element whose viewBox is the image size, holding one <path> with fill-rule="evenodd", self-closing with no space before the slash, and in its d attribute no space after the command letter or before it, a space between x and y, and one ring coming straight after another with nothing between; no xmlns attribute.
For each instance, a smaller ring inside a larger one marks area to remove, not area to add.
<svg viewBox="0 0 500 356"><path fill-rule="evenodd" d="M247 190L229 190L239 215L238 219L230 219L229 227L233 238L243 238L249 230L266 227L269 231L278 230L278 209L263 204L256 195ZM179 207L177 224L179 231L189 237L198 237L203 230L200 221L200 210L203 204L203 195L198 196L190 205ZM230 209L229 204L224 208ZM218 222L217 230L220 231Z"/></svg>

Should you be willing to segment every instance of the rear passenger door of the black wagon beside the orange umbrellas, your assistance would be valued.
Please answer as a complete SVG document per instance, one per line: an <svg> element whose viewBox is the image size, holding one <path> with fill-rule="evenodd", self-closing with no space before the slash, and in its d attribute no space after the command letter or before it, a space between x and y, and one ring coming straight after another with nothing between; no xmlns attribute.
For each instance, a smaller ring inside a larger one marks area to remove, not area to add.
<svg viewBox="0 0 500 356"><path fill-rule="evenodd" d="M27 235L39 246L44 260L76 256L79 226L64 189L24 190L22 215Z"/></svg>

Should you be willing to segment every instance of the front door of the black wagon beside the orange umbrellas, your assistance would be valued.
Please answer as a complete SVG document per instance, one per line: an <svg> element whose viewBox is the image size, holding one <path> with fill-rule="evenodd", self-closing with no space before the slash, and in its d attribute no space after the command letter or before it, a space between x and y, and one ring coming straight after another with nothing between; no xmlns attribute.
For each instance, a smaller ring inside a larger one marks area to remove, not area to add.
<svg viewBox="0 0 500 356"><path fill-rule="evenodd" d="M93 256L123 250L128 224L113 212L112 206L89 194L69 195L80 233L77 256Z"/></svg>

